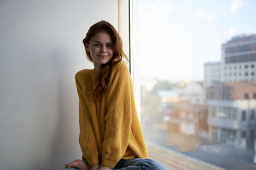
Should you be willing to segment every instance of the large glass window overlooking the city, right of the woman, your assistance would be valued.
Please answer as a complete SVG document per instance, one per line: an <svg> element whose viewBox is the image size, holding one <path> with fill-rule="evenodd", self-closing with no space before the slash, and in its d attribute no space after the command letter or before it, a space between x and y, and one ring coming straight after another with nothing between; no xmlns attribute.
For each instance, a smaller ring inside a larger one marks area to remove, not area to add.
<svg viewBox="0 0 256 170"><path fill-rule="evenodd" d="M256 109L256 99L244 96L256 89L255 80L248 81L256 64L255 6L243 0L132 1L141 127L149 156L167 169L255 166L246 133L252 136L256 125L246 113Z"/></svg>

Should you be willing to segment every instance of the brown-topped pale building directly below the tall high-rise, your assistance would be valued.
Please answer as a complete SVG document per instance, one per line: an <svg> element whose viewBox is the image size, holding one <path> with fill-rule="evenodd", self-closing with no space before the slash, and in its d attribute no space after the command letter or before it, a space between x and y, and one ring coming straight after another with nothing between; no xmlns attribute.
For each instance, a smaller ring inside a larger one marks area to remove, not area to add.
<svg viewBox="0 0 256 170"><path fill-rule="evenodd" d="M256 81L224 82L207 88L209 139L237 148L253 146Z"/></svg>

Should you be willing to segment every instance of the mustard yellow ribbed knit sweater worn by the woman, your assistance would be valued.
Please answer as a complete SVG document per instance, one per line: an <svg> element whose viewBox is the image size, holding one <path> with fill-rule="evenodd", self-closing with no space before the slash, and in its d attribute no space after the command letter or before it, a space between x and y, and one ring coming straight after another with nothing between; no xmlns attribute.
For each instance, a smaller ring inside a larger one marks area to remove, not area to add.
<svg viewBox="0 0 256 170"><path fill-rule="evenodd" d="M90 166L102 164L113 169L120 159L148 158L127 66L122 61L112 67L101 102L93 96L95 77L94 69L76 74L82 159Z"/></svg>

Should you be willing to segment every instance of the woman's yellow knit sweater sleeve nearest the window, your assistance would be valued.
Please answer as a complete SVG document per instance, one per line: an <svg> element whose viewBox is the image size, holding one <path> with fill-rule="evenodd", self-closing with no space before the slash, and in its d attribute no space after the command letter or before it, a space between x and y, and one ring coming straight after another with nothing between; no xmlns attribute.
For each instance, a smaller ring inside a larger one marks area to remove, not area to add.
<svg viewBox="0 0 256 170"><path fill-rule="evenodd" d="M106 129L102 143L102 165L111 169L123 157L131 134L131 76L124 63L116 64L106 95Z"/></svg>

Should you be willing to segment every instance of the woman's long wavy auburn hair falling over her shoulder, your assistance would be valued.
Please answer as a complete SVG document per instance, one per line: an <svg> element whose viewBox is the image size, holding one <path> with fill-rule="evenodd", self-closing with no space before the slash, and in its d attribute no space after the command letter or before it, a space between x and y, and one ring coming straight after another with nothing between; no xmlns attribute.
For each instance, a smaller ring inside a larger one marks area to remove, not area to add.
<svg viewBox="0 0 256 170"><path fill-rule="evenodd" d="M111 36L111 40L113 42L113 57L111 60L109 60L108 63L103 64L102 68L99 70L99 72L96 75L96 78L98 79L98 83L95 89L93 89L94 96L101 100L103 94L108 90L108 82L109 77L111 74L111 69L115 64L118 64L122 60L123 57L129 61L127 55L123 52L123 43L122 39L120 38L118 32L113 27L113 25L109 24L109 22L106 22L104 20L97 22L96 24L93 24L88 32L86 33L86 37L83 39L84 48L86 50L86 44L90 43L90 39L95 36L99 32L108 32L108 34ZM90 55L90 52L86 50L86 57L88 60L93 62L92 57Z"/></svg>

